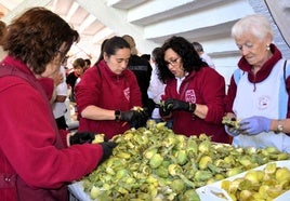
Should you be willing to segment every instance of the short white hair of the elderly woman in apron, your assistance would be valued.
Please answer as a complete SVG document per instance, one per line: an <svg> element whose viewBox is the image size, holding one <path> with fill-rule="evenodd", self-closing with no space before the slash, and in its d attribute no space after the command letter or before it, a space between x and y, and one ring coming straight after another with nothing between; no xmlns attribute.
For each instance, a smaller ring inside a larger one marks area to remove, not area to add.
<svg viewBox="0 0 290 201"><path fill-rule="evenodd" d="M234 38L239 38L245 32L252 34L260 40L264 40L267 36L273 40L271 24L264 15L247 15L238 21L232 28L232 37Z"/></svg>

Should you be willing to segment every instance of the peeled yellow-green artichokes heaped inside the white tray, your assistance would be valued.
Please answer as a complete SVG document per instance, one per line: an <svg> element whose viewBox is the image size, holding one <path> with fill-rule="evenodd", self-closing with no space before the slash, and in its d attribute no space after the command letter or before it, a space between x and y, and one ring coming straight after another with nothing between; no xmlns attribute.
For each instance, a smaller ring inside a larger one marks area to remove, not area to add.
<svg viewBox="0 0 290 201"><path fill-rule="evenodd" d="M274 200L290 189L290 170L267 163L263 170L250 170L234 180L222 180L221 187L233 201Z"/></svg>

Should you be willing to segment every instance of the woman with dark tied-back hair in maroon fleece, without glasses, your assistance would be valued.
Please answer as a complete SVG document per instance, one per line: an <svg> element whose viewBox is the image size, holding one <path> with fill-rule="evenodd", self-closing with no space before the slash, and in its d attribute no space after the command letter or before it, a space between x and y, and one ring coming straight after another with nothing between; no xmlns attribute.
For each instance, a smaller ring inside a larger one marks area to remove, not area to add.
<svg viewBox="0 0 290 201"><path fill-rule="evenodd" d="M104 133L109 139L130 128L146 125L141 92L134 73L127 69L130 45L121 37L105 42L103 59L76 85L79 131Z"/></svg>

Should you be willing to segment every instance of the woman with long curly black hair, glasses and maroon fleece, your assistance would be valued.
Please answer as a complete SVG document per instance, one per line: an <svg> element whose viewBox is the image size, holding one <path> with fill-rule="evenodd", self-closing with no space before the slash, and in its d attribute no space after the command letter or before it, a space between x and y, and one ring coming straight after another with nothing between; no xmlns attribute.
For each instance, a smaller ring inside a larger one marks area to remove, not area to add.
<svg viewBox="0 0 290 201"><path fill-rule="evenodd" d="M159 79L166 83L160 115L173 120L173 131L186 136L205 133L228 143L222 125L225 81L207 66L189 41L172 37L157 56Z"/></svg>

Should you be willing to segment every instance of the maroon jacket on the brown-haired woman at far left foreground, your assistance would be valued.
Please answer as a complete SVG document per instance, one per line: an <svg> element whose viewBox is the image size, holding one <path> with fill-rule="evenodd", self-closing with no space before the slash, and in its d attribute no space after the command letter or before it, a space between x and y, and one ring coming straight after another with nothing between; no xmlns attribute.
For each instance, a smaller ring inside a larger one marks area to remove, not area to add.
<svg viewBox="0 0 290 201"><path fill-rule="evenodd" d="M66 201L66 185L93 171L103 149L91 144L64 148L39 81L13 57L4 66L18 72L0 75L0 200Z"/></svg>

